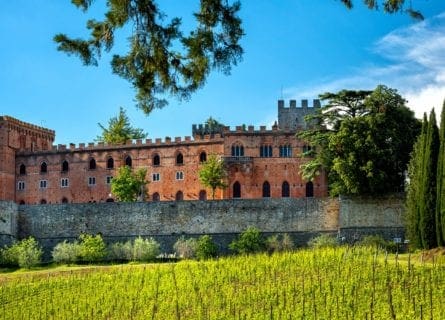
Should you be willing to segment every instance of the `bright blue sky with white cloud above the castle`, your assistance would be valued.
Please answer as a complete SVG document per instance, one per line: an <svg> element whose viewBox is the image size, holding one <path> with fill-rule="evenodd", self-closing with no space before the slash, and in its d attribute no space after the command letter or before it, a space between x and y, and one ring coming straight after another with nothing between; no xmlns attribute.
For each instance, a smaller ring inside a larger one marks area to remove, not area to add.
<svg viewBox="0 0 445 320"><path fill-rule="evenodd" d="M396 88L421 117L445 98L445 1L412 0L426 19L347 10L338 0L242 0L243 60L231 75L213 73L189 101L148 117L134 91L111 73L109 57L84 67L56 50L56 33L86 35L87 14L69 0L3 1L0 10L0 115L56 130L55 143L92 142L122 106L150 138L191 135L209 116L236 126L271 125L277 100L313 99L326 91ZM191 21L197 0L158 1L168 16ZM409 1L407 1L409 3ZM121 39L116 52L125 49Z"/></svg>

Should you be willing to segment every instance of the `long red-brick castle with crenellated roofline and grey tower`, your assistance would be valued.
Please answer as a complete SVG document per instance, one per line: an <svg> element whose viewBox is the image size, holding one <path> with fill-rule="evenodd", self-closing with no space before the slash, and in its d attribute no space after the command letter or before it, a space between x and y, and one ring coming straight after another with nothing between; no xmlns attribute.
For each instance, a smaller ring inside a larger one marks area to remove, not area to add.
<svg viewBox="0 0 445 320"><path fill-rule="evenodd" d="M53 146L55 132L0 116L0 201L18 204L112 202L111 180L119 167L146 168L148 201L205 200L198 179L210 154L224 159L228 188L217 199L302 198L327 195L324 174L304 181L299 173L308 147L296 138L304 116L320 107L302 100L278 101L278 122L209 128L193 125L192 136L129 141L123 145L81 143Z"/></svg>

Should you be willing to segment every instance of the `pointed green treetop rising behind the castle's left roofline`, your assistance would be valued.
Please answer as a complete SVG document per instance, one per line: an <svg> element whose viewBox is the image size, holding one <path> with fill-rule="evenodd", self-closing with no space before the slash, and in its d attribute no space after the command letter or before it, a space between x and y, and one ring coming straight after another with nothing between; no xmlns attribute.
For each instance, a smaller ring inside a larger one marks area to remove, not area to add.
<svg viewBox="0 0 445 320"><path fill-rule="evenodd" d="M108 144L122 144L128 140L147 137L143 129L133 128L130 125L130 120L122 107L119 108L119 114L116 117L108 120L108 128L100 123L98 125L102 129L102 135L98 136L97 140Z"/></svg>

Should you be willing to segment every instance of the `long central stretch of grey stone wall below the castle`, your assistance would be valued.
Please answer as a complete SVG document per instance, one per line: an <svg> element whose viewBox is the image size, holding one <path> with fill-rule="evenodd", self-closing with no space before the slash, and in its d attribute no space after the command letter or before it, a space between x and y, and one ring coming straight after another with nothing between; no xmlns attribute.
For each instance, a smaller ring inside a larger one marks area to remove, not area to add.
<svg viewBox="0 0 445 320"><path fill-rule="evenodd" d="M19 237L34 236L48 251L80 233L109 242L153 236L171 252L181 235L212 234L224 247L249 226L268 234L337 232L336 199L257 199L149 203L55 204L19 207ZM219 239L219 240L218 240Z"/></svg>

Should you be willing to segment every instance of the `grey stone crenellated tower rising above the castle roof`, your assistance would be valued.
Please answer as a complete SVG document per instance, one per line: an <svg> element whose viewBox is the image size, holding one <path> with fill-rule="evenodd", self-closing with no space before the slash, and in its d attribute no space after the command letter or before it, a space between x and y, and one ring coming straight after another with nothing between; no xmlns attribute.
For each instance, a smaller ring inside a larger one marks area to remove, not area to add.
<svg viewBox="0 0 445 320"><path fill-rule="evenodd" d="M284 106L284 100L278 100L278 127L282 130L304 130L311 126L304 119L309 114L314 114L321 107L320 100L314 99L312 107L307 100L301 100L301 106L297 107L296 100L290 100L289 107Z"/></svg>

